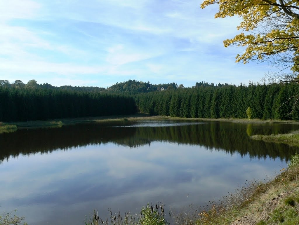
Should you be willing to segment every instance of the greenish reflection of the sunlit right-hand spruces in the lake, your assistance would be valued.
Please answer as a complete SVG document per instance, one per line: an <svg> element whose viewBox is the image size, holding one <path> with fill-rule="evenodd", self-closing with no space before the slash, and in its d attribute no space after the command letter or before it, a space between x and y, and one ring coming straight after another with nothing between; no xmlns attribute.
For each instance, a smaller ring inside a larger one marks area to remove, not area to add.
<svg viewBox="0 0 299 225"><path fill-rule="evenodd" d="M148 137L151 141L169 141L173 143L193 144L210 149L235 152L241 156L249 154L251 157L276 158L288 160L297 148L286 144L266 143L251 140L247 134L285 133L292 128L286 125L251 125L249 131L246 124L211 122L201 125L154 127L148 129L140 127L136 130L137 137ZM138 139L138 138L137 138Z"/></svg>

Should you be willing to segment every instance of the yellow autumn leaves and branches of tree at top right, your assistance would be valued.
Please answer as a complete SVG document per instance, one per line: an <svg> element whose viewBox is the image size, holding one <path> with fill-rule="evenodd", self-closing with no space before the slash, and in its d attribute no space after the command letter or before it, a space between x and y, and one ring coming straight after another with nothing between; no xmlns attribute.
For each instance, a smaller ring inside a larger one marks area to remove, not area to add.
<svg viewBox="0 0 299 225"><path fill-rule="evenodd" d="M215 18L242 19L237 29L243 32L223 42L246 47L236 62L271 59L294 72L285 74L286 81L299 81L299 0L204 0L201 7L212 4L219 5Z"/></svg>

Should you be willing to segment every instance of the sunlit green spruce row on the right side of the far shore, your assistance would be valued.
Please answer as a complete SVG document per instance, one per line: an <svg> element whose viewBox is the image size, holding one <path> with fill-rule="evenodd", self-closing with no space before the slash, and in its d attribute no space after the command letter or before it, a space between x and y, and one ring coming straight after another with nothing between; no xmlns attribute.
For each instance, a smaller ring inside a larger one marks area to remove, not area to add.
<svg viewBox="0 0 299 225"><path fill-rule="evenodd" d="M252 118L299 120L294 93L297 83L245 85L198 85L135 96L138 111L152 115L187 118Z"/></svg>

